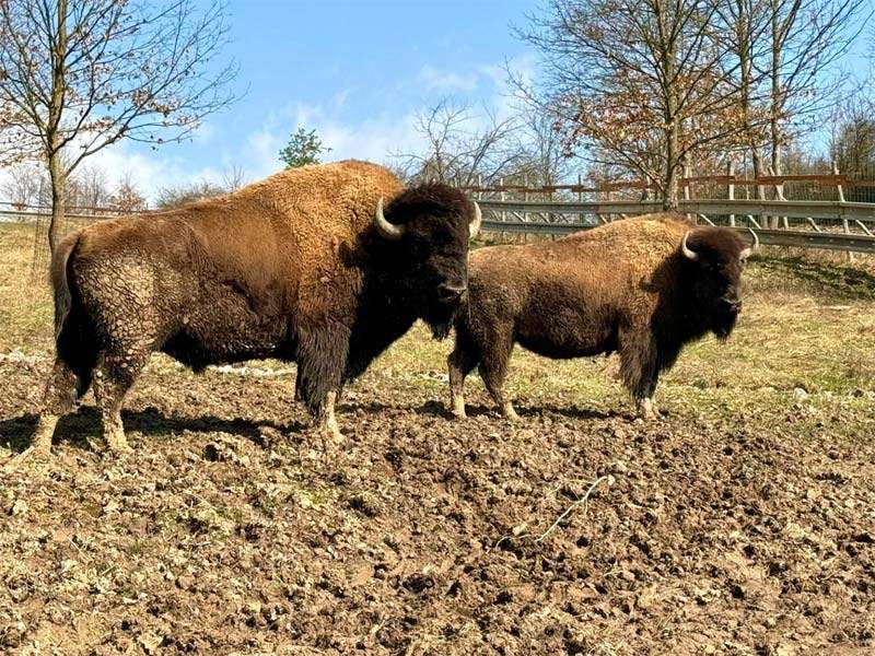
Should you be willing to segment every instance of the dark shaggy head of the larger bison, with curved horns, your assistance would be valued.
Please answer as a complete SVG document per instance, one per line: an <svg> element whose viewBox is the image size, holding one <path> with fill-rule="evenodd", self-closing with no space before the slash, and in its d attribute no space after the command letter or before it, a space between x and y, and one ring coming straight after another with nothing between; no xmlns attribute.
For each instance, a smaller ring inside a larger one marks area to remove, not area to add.
<svg viewBox="0 0 875 656"><path fill-rule="evenodd" d="M381 199L374 227L382 256L392 259L393 283L434 336L446 337L467 294L468 241L479 231L480 208L458 189L421 185L385 208Z"/></svg>

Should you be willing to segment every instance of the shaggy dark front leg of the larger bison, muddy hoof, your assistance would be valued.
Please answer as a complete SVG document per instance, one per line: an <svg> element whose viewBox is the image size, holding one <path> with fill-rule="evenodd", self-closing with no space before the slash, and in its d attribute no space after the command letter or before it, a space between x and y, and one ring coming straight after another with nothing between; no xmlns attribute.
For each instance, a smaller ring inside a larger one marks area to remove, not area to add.
<svg viewBox="0 0 875 656"><path fill-rule="evenodd" d="M335 444L343 441L335 403L348 353L349 330L339 326L311 330L299 339L295 393L300 391L323 437Z"/></svg>

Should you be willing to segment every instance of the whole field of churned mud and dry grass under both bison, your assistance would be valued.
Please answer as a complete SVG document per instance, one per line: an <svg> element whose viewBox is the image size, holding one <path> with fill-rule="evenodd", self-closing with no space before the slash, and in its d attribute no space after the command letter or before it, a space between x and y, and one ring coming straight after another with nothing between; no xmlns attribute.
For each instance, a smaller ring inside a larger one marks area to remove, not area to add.
<svg viewBox="0 0 875 656"><path fill-rule="evenodd" d="M50 306L0 232L0 467L35 426ZM631 417L614 359L517 351L499 418L421 328L326 454L293 367L155 356L105 452L91 396L0 472L10 654L870 654L875 284L767 257L736 335Z"/></svg>

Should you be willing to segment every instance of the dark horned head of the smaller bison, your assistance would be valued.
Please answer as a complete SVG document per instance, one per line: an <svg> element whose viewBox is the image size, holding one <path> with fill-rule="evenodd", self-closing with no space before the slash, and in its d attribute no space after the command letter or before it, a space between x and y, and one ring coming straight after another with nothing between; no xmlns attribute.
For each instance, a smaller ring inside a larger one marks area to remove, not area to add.
<svg viewBox="0 0 875 656"><path fill-rule="evenodd" d="M759 246L756 233L750 234L748 245L733 230L700 227L688 231L680 243L691 309L719 339L730 336L742 311L742 269Z"/></svg>

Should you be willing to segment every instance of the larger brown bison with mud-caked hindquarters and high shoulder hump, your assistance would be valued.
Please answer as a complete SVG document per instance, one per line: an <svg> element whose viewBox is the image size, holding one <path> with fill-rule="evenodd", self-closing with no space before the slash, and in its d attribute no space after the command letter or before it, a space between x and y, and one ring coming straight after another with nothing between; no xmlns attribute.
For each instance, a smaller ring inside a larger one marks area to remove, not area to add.
<svg viewBox="0 0 875 656"><path fill-rule="evenodd" d="M479 220L450 187L340 162L70 235L52 258L57 359L33 450L92 384L109 447L127 449L121 402L154 351L195 371L294 361L302 399L339 437L343 383L418 318L448 333Z"/></svg>

